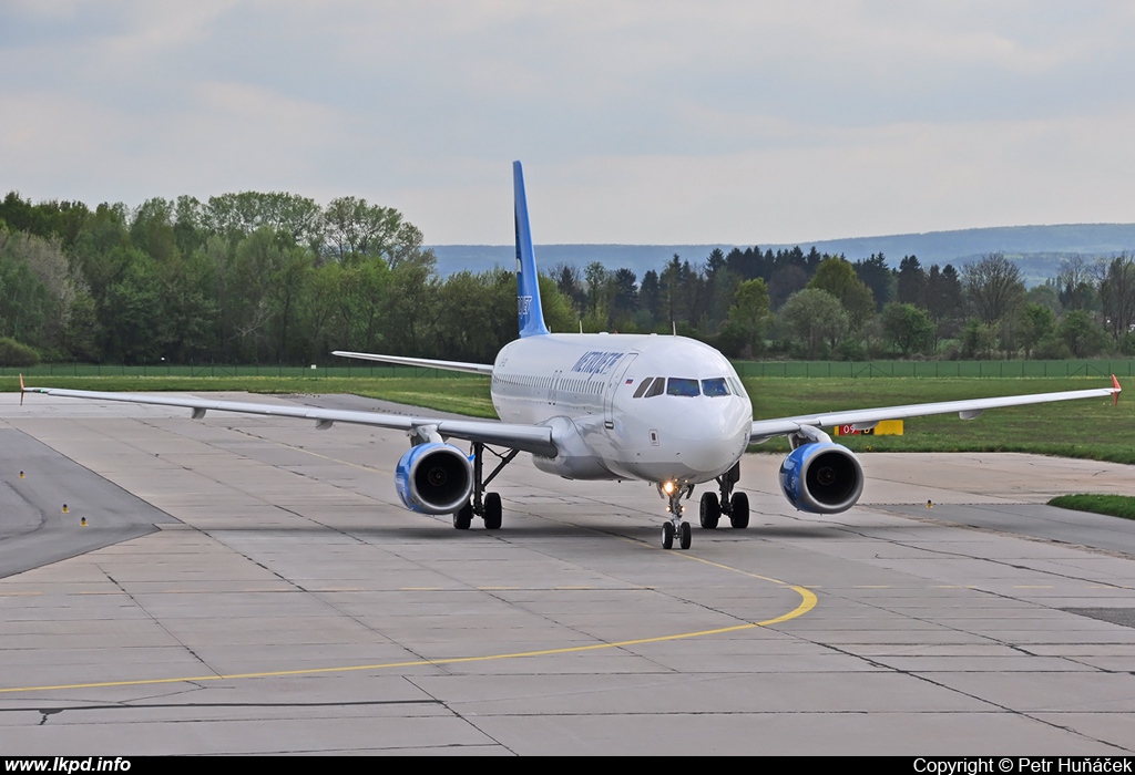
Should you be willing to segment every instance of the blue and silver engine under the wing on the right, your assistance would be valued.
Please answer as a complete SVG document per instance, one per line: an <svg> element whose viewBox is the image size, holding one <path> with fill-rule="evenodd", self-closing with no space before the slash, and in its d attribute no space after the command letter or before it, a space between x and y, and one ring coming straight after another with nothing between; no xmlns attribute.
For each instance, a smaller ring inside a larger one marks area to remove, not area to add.
<svg viewBox="0 0 1135 775"><path fill-rule="evenodd" d="M863 467L851 450L832 443L804 444L781 463L781 489L800 511L847 511L863 494Z"/></svg>

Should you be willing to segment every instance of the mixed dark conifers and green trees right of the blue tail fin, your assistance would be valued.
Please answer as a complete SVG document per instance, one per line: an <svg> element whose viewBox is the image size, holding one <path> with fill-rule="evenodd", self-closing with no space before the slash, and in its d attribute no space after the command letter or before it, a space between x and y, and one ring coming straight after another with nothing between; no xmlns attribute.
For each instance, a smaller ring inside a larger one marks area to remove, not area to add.
<svg viewBox="0 0 1135 775"><path fill-rule="evenodd" d="M586 330L680 333L731 357L1086 358L1135 355L1135 261L1127 254L1065 259L1025 288L993 253L959 271L882 254L848 261L815 247L714 250L699 264L674 255L636 284L632 272L553 267Z"/></svg>

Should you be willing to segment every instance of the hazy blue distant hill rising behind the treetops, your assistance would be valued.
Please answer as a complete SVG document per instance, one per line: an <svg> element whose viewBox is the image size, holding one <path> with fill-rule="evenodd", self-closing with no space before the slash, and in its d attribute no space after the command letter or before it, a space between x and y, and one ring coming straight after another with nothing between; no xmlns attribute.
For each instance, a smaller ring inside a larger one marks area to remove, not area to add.
<svg viewBox="0 0 1135 775"><path fill-rule="evenodd" d="M760 249L793 248L792 245L760 242ZM916 255L925 266L955 264L960 266L989 253L1004 253L1016 261L1029 286L1044 282L1057 272L1060 261L1081 255L1085 258L1112 256L1123 250L1135 252L1135 223L1075 223L1065 225L993 227L958 231L890 235L885 237L851 237L801 241L809 250L843 254L849 261L866 258L874 253L886 256L898 266L902 256ZM625 266L638 276L648 270L658 271L675 253L692 263L705 261L714 248L729 253L733 245L537 245L541 267L560 263L580 269L594 261L608 269ZM735 247L748 248L753 245ZM435 245L438 272L449 275L462 270L484 272L494 266L512 269L515 248L512 245Z"/></svg>

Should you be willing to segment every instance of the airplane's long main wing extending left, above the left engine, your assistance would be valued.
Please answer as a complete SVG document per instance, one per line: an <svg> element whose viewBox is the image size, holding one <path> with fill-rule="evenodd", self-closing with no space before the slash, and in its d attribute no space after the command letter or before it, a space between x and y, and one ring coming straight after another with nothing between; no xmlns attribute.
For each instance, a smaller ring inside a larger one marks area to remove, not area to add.
<svg viewBox="0 0 1135 775"><path fill-rule="evenodd" d="M23 393L42 393L44 395L92 399L96 401L125 401L127 403L149 403L160 407L184 407L193 410L193 419L201 419L205 416L207 411L215 410L310 419L314 420L316 427L319 429L329 428L335 423L371 425L379 428L405 431L406 433L414 433L419 429L428 433L431 429L436 429L444 438L462 438L494 446L507 446L514 450L532 452L545 458L554 458L557 453L556 445L552 441L552 428L541 425L513 425L493 420L407 417L372 411L317 409L244 401L217 401L179 395L145 395L141 393L102 393L90 390L64 390L59 388L25 388L23 377L20 377L19 383L22 397Z"/></svg>

